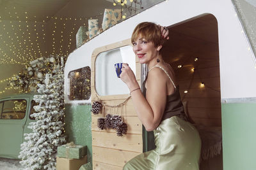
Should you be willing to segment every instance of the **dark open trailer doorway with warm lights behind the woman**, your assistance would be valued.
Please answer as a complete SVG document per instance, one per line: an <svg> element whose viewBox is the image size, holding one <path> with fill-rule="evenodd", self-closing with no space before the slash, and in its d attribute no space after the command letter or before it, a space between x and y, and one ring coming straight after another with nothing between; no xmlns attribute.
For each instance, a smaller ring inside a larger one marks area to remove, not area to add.
<svg viewBox="0 0 256 170"><path fill-rule="evenodd" d="M218 22L207 13L168 29L163 57L175 70L186 114L200 132L200 169L223 169Z"/></svg>

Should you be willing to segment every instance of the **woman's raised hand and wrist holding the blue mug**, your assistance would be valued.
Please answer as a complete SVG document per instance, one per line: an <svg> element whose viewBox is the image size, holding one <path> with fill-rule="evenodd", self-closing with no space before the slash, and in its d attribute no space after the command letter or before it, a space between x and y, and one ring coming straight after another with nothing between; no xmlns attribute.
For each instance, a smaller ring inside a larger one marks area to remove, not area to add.
<svg viewBox="0 0 256 170"><path fill-rule="evenodd" d="M120 74L120 78L124 83L127 85L129 90L136 89L140 87L138 85L138 82L136 80L136 77L131 69L131 67L128 66L127 63L122 64L122 73Z"/></svg>

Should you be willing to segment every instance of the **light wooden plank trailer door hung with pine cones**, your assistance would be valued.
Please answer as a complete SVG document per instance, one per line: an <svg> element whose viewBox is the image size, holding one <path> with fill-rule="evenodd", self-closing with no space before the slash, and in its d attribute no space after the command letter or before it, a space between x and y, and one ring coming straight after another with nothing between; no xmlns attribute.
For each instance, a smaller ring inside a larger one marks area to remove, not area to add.
<svg viewBox="0 0 256 170"><path fill-rule="evenodd" d="M131 39L126 39L112 45L97 48L92 54L92 103L99 101L99 98L105 104L110 106L123 103L129 94L115 96L98 96L95 91L95 59L100 52L108 51L125 45L131 45ZM140 83L141 67L138 59L136 59L136 78ZM122 169L125 162L132 159L136 155L143 152L142 141L142 124L138 119L132 105L132 100L129 99L124 106L122 117L127 124L127 134L119 137L116 136L114 129L100 130L97 127L97 119L104 117L108 111L102 111L99 115L92 113L92 160L93 169ZM113 113L111 113L113 114Z"/></svg>

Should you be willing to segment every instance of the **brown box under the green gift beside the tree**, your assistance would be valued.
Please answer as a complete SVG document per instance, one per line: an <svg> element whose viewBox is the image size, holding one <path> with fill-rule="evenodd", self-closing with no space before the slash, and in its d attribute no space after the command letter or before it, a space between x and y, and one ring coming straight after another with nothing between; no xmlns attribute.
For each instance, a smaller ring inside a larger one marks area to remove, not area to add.
<svg viewBox="0 0 256 170"><path fill-rule="evenodd" d="M79 170L81 166L86 164L87 155L81 159L68 159L57 157L57 170Z"/></svg>

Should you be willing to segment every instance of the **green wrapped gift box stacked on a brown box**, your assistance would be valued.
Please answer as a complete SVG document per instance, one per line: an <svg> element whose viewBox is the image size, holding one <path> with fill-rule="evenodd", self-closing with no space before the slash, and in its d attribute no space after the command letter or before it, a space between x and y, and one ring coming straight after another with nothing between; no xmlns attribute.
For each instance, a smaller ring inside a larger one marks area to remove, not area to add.
<svg viewBox="0 0 256 170"><path fill-rule="evenodd" d="M68 143L57 148L57 155L60 158L81 159L87 154L87 147Z"/></svg>

